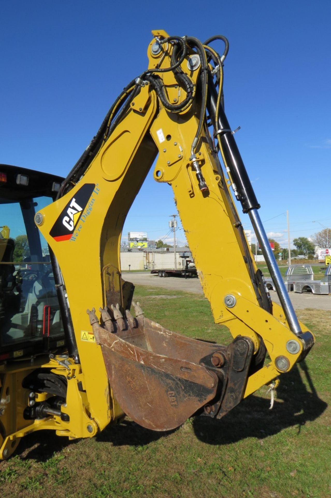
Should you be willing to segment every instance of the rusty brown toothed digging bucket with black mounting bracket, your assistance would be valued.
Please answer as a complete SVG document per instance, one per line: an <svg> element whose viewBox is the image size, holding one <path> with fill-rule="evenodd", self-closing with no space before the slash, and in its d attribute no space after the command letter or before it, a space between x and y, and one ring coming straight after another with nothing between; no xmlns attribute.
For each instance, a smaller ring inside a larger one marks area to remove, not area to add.
<svg viewBox="0 0 331 498"><path fill-rule="evenodd" d="M249 338L228 347L176 334L120 307L87 310L101 346L113 395L123 411L148 429L178 427L195 413L221 417L243 397L253 354Z"/></svg>

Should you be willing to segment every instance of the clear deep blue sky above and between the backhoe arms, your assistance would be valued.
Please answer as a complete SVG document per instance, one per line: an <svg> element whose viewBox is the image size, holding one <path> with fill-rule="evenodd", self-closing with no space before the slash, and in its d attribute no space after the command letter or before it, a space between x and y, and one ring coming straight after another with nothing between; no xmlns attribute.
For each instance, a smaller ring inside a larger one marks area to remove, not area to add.
<svg viewBox="0 0 331 498"><path fill-rule="evenodd" d="M228 37L225 109L267 233L287 247L286 210L291 239L322 230L313 220L331 227L330 1L4 2L0 161L66 176L147 67L152 29ZM149 175L123 235L165 237L174 212L170 187Z"/></svg>

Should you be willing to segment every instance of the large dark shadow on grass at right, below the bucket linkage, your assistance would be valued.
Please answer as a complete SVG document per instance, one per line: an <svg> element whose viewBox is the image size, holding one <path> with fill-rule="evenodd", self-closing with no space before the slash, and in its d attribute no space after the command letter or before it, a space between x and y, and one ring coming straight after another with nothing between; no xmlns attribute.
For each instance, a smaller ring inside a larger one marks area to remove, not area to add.
<svg viewBox="0 0 331 498"><path fill-rule="evenodd" d="M302 381L305 374L311 392ZM251 395L222 419L195 417L193 429L196 437L208 444L231 444L248 437L264 439L290 426L298 427L318 418L328 404L314 387L305 361L296 364L280 379L273 408L270 399Z"/></svg>

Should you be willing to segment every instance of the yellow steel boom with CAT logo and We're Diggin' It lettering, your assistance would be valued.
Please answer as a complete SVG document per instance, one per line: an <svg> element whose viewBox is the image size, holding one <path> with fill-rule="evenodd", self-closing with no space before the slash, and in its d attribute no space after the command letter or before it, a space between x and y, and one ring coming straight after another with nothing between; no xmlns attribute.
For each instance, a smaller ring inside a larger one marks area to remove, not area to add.
<svg viewBox="0 0 331 498"><path fill-rule="evenodd" d="M114 268L120 271L123 224L156 156L156 148L148 133L157 111L156 97L149 93L148 87L142 89L143 93L148 100L144 114L139 111L129 113L103 145L82 181L42 211L43 224L39 227L61 267L84 374L88 409L99 429L122 412L117 407L117 412L111 413L108 378L100 347L83 341L82 334L90 330L86 308L91 303L105 305L109 281L117 285L113 291L119 292L119 282L114 280L113 272ZM79 212L73 235L69 240L57 241L50 236L50 231L68 201L77 198L82 184L91 184L93 188Z"/></svg>

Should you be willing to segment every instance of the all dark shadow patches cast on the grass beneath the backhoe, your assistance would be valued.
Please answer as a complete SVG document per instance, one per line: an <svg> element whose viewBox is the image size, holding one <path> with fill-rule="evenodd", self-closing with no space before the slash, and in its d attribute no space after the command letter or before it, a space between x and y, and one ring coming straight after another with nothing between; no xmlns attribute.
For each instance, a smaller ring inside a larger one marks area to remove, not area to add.
<svg viewBox="0 0 331 498"><path fill-rule="evenodd" d="M311 392L302 381L299 369L306 375ZM248 396L220 420L207 416L193 417L193 430L200 441L211 445L231 444L248 437L264 439L290 426L297 426L300 433L301 426L318 418L328 404L318 396L307 364L302 362L281 377L273 409L269 410L269 406L269 399ZM155 432L124 419L117 425L106 427L95 439L113 446L144 446L177 430ZM15 453L23 460L43 462L78 441L56 436L53 431L34 432L22 438Z"/></svg>

